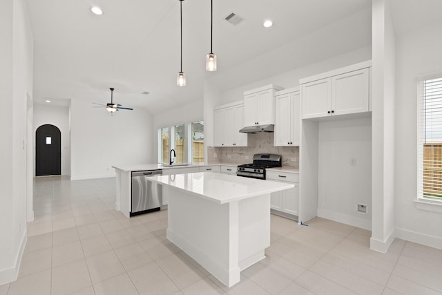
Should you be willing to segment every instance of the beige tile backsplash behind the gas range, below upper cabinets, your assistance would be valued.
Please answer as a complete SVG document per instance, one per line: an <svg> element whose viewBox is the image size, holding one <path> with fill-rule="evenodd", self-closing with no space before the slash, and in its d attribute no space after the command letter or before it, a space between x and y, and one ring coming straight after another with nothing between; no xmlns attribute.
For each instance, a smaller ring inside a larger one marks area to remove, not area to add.
<svg viewBox="0 0 442 295"><path fill-rule="evenodd" d="M208 164L246 164L256 153L276 153L282 156L282 166L299 168L299 146L273 146L274 133L249 133L247 146L214 147L207 149ZM216 157L215 157L216 155Z"/></svg>

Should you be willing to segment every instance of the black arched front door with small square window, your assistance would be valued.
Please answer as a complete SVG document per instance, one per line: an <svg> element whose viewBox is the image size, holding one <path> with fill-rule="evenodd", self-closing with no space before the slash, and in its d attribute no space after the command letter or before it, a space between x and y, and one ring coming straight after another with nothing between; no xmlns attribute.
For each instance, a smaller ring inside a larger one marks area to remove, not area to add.
<svg viewBox="0 0 442 295"><path fill-rule="evenodd" d="M61 132L54 125L35 131L35 175L61 175Z"/></svg>

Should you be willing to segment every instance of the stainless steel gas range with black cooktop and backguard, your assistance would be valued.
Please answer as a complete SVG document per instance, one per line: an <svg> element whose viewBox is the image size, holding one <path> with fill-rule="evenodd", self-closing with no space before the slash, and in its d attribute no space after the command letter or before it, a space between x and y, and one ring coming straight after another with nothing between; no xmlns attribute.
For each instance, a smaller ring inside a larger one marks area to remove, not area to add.
<svg viewBox="0 0 442 295"><path fill-rule="evenodd" d="M273 153L257 153L253 155L253 163L238 165L236 175L249 178L265 179L265 169L282 166L281 155Z"/></svg>

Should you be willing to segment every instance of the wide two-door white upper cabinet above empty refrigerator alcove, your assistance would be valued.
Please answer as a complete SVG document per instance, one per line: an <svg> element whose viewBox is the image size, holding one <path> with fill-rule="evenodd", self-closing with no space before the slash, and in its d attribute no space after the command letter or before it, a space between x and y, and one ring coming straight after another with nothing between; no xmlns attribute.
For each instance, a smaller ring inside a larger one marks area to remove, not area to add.
<svg viewBox="0 0 442 295"><path fill-rule="evenodd" d="M302 119L368 112L370 65L366 61L301 79Z"/></svg>

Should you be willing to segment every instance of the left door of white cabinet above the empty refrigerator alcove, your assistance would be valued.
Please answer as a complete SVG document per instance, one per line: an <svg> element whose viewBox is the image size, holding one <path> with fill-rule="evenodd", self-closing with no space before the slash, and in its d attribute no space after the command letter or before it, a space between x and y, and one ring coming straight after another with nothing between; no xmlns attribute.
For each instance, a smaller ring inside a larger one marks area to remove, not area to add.
<svg viewBox="0 0 442 295"><path fill-rule="evenodd" d="M332 107L332 79L302 84L302 119L325 117Z"/></svg>

